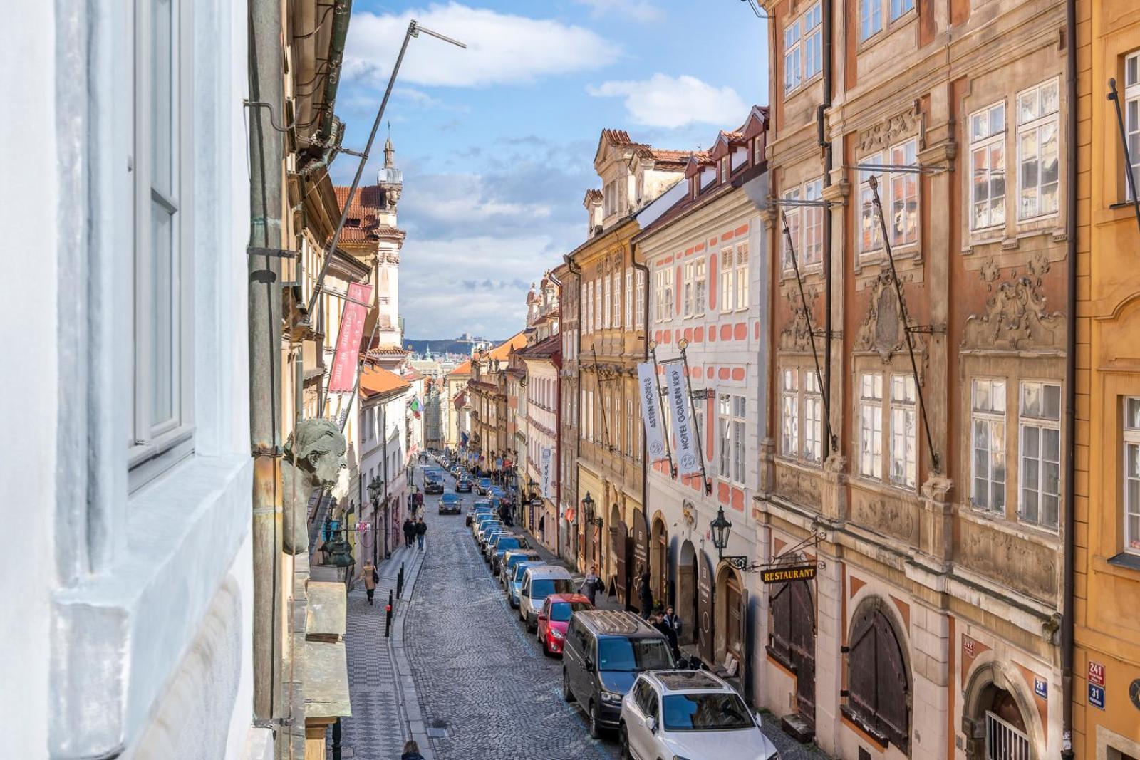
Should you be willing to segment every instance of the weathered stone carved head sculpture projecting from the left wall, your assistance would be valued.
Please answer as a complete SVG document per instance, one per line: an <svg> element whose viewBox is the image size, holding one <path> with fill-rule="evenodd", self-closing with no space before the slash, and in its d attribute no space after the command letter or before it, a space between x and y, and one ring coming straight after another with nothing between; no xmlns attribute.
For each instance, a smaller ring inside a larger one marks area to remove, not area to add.
<svg viewBox="0 0 1140 760"><path fill-rule="evenodd" d="M284 550L303 554L309 549L309 498L316 490L340 498L348 493L348 461L344 434L331 419L302 419L285 442L282 463Z"/></svg>

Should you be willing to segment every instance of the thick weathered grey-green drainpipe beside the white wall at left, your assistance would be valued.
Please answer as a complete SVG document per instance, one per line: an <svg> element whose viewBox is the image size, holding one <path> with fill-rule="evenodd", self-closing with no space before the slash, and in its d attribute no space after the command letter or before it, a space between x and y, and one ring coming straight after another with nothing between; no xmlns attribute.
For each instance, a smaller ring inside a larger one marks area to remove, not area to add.
<svg viewBox="0 0 1140 760"><path fill-rule="evenodd" d="M278 0L250 0L250 99L285 103ZM280 248L284 136L272 112L251 108L250 247ZM280 684L282 589L282 260L250 253L250 447L253 455L253 717L266 725L288 705L277 698Z"/></svg>

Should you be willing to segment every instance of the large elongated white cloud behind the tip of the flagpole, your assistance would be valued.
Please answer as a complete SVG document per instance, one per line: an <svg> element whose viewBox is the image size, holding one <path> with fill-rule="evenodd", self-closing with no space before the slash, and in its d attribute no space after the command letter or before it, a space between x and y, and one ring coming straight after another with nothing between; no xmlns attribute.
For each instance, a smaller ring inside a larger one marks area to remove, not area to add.
<svg viewBox="0 0 1140 760"><path fill-rule="evenodd" d="M399 79L423 87L531 82L546 75L598 68L620 52L613 42L581 26L449 2L398 16L352 14L345 75L386 83L413 18L467 44L462 50L426 34L413 40Z"/></svg>

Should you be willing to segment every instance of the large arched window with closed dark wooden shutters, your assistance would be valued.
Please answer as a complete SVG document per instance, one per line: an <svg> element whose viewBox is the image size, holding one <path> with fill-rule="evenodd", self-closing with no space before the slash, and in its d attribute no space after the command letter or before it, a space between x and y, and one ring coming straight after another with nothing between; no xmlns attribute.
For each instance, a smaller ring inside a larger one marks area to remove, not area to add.
<svg viewBox="0 0 1140 760"><path fill-rule="evenodd" d="M898 637L876 600L852 621L847 654L847 704L844 714L869 734L910 744L910 681Z"/></svg>

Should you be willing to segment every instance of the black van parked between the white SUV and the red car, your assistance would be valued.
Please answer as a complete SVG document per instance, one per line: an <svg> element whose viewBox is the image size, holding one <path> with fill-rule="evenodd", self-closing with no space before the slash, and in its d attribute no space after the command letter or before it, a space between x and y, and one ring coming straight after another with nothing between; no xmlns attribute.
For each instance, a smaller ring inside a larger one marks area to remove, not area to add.
<svg viewBox="0 0 1140 760"><path fill-rule="evenodd" d="M669 641L632 612L591 610L570 619L562 649L562 696L589 717L589 735L617 728L621 697L643 670L673 669Z"/></svg>

